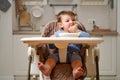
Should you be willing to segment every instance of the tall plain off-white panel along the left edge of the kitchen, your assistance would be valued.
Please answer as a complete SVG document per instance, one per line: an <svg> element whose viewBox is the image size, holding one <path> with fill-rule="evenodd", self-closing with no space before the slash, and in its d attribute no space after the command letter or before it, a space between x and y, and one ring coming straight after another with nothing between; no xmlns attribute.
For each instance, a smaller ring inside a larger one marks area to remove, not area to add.
<svg viewBox="0 0 120 80"><path fill-rule="evenodd" d="M0 80L13 80L12 7L0 10L0 28Z"/></svg>

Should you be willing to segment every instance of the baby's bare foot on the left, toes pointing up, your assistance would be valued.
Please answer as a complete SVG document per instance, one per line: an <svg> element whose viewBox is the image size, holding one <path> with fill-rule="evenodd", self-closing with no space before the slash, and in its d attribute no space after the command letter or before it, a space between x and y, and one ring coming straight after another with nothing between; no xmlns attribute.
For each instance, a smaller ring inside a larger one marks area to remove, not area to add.
<svg viewBox="0 0 120 80"><path fill-rule="evenodd" d="M50 76L51 69L48 65L45 65L42 62L38 62L38 67L45 76Z"/></svg>

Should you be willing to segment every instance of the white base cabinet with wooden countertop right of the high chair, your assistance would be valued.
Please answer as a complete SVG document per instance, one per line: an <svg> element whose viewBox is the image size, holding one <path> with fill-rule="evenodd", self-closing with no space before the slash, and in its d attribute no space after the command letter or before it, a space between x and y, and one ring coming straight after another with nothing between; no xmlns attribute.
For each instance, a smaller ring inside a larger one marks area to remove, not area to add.
<svg viewBox="0 0 120 80"><path fill-rule="evenodd" d="M104 42L100 48L99 68L101 76L116 76L117 32L89 32L93 37L102 37Z"/></svg>

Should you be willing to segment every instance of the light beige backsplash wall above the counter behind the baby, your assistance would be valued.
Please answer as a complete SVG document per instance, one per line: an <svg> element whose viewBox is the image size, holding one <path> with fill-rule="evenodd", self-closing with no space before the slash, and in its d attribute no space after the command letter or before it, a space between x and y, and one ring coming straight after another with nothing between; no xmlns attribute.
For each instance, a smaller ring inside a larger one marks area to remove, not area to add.
<svg viewBox="0 0 120 80"><path fill-rule="evenodd" d="M25 0L24 0L25 1ZM89 19L95 19L96 25L100 28L111 29L113 31L116 30L116 6L114 9L110 8L110 5L80 5L80 0L66 0L64 4L73 4L77 3L77 7L74 8L74 11L78 14L78 20L82 22L87 30L92 30L92 24L88 23ZM29 1L28 1L29 2ZM56 19L55 7L61 7L64 9L66 6L50 6L49 4L58 4L62 3L62 1L49 0L48 5L42 6L43 12L42 16L36 21L31 16L31 21L36 24L36 29L39 30L40 27L45 25L47 22ZM38 4L25 4L27 7L27 11L30 12L31 8ZM116 0L114 1L114 5L116 5ZM71 7L71 6L67 6ZM31 12L30 12L31 13ZM16 21L16 20L15 20ZM13 30L18 30L18 26L13 26Z"/></svg>

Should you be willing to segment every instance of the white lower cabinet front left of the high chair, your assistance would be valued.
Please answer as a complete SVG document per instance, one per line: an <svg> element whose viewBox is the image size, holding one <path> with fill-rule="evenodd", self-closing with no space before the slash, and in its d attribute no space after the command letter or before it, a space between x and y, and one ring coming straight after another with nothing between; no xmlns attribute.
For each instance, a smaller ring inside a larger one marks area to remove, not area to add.
<svg viewBox="0 0 120 80"><path fill-rule="evenodd" d="M23 37L38 37L40 35L13 35L13 69L14 75L27 75L28 73L28 45L21 42Z"/></svg>

